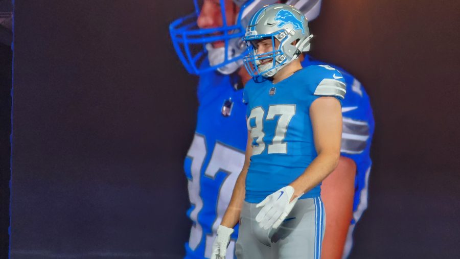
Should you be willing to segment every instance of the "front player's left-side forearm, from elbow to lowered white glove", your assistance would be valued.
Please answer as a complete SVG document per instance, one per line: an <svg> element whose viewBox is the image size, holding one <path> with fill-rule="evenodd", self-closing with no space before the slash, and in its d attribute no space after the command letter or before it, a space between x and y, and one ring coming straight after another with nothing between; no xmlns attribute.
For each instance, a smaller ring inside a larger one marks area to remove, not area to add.
<svg viewBox="0 0 460 259"><path fill-rule="evenodd" d="M243 168L243 171L238 176L235 188L233 189L232 199L220 223L223 226L233 228L240 220L241 209L246 194L246 173L247 169Z"/></svg>

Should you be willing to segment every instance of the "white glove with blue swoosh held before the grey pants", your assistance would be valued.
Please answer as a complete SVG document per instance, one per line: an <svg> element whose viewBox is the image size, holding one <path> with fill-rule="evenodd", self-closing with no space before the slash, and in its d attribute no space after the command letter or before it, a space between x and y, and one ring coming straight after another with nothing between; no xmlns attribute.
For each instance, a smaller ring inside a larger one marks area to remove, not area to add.
<svg viewBox="0 0 460 259"><path fill-rule="evenodd" d="M264 229L270 227L278 228L291 212L298 198L303 193L289 202L294 194L294 188L290 185L270 194L256 205L256 208L263 207L256 216L259 226Z"/></svg>

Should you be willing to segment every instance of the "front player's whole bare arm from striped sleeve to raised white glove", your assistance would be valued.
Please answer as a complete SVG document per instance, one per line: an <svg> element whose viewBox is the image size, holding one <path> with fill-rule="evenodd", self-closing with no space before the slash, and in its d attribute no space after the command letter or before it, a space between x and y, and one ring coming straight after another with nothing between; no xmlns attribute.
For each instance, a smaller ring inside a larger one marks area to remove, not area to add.
<svg viewBox="0 0 460 259"><path fill-rule="evenodd" d="M310 106L313 138L318 156L304 173L295 179L293 198L306 193L324 180L336 167L340 157L342 113L334 97L320 97Z"/></svg>

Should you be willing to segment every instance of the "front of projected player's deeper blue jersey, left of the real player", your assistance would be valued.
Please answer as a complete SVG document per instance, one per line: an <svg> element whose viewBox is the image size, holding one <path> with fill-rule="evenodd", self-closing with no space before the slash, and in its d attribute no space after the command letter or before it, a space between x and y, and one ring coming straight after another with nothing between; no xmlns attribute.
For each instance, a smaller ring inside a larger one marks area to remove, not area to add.
<svg viewBox="0 0 460 259"><path fill-rule="evenodd" d="M246 105L237 75L210 72L200 76L196 132L185 159L193 226L186 258L211 257L217 227L228 206L246 149ZM233 258L238 227L227 249Z"/></svg>

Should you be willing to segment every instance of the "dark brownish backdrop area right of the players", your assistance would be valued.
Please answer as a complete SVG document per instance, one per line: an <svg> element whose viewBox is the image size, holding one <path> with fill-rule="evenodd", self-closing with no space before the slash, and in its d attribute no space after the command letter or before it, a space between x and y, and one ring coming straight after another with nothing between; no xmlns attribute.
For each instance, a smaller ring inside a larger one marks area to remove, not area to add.
<svg viewBox="0 0 460 259"><path fill-rule="evenodd" d="M458 258L459 1L324 1L313 53L371 96L369 208L352 258Z"/></svg>

